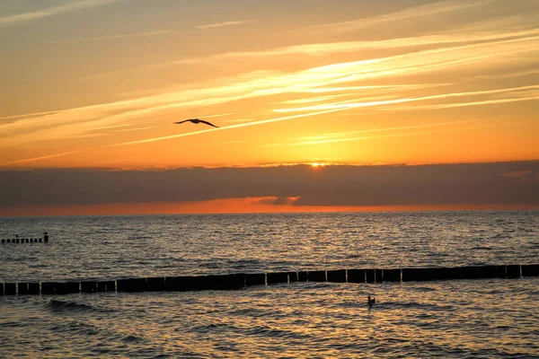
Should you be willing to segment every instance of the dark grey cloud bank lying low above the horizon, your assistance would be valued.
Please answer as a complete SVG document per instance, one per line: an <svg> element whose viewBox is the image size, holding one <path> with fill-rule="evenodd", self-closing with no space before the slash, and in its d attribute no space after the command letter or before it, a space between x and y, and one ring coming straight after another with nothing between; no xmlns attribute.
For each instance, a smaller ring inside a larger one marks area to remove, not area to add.
<svg viewBox="0 0 539 359"><path fill-rule="evenodd" d="M516 180L516 176L534 178L537 173L539 161L326 165L317 169L292 165L165 171L0 171L0 207L180 203L245 197L264 198L262 203L279 206L539 206L539 181Z"/></svg>

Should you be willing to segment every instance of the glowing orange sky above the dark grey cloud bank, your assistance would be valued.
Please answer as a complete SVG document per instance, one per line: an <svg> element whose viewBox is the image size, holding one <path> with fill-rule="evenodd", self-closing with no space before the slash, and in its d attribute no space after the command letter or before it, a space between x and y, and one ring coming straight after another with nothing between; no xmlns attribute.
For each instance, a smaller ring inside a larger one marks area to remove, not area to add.
<svg viewBox="0 0 539 359"><path fill-rule="evenodd" d="M0 171L537 160L537 23L535 0L7 2Z"/></svg>

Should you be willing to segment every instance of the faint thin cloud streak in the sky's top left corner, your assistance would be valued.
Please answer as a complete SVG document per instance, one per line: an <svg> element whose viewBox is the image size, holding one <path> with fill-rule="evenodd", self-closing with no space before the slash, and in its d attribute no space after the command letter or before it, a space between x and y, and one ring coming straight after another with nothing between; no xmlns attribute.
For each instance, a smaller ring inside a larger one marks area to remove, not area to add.
<svg viewBox="0 0 539 359"><path fill-rule="evenodd" d="M58 15L61 13L69 13L81 9L96 7L104 4L115 3L118 0L84 0L77 2L68 2L58 6L47 7L29 13L17 13L0 17L0 28L4 26L14 25L19 22L31 22L33 20L42 19L49 16ZM36 3L38 4L38 3Z"/></svg>

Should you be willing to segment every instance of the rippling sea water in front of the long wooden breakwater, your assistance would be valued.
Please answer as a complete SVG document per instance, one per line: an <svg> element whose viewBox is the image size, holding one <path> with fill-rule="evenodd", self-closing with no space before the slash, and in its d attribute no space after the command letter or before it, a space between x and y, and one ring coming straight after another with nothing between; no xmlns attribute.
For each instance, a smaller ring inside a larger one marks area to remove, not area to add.
<svg viewBox="0 0 539 359"><path fill-rule="evenodd" d="M5 297L0 354L534 357L537 293L527 278Z"/></svg>

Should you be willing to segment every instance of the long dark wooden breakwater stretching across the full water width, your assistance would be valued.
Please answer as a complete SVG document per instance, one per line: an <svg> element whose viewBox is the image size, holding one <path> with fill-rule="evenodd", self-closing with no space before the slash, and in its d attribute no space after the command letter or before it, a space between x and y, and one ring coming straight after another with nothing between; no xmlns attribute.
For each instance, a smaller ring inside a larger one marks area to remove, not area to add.
<svg viewBox="0 0 539 359"><path fill-rule="evenodd" d="M539 264L480 267L335 269L300 272L237 273L212 276L159 276L104 281L17 282L0 285L0 295L99 292L186 292L236 290L292 282L382 283L539 276Z"/></svg>

